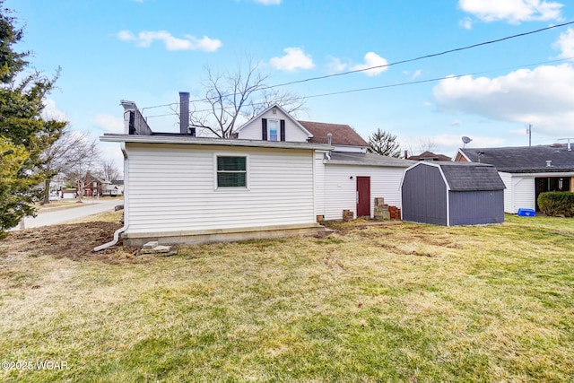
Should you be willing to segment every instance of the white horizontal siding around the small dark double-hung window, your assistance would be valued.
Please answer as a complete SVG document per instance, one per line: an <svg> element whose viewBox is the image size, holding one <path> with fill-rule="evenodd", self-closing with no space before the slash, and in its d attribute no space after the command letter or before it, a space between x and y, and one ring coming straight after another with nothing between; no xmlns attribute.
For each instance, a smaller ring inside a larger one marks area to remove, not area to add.
<svg viewBox="0 0 574 383"><path fill-rule="evenodd" d="M248 154L248 189L215 189L215 157ZM315 222L313 151L127 144L126 234Z"/></svg>

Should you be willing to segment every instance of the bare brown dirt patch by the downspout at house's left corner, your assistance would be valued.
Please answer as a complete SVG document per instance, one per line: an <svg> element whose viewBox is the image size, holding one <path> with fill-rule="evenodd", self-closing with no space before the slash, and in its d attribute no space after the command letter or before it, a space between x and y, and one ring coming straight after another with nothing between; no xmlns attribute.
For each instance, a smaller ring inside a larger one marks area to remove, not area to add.
<svg viewBox="0 0 574 383"><path fill-rule="evenodd" d="M29 257L69 258L74 261L95 260L115 265L149 262L150 257L135 257L139 249L123 247L121 239L113 248L97 253L92 251L113 239L114 231L120 227L121 224L117 222L87 222L13 231L0 241L0 257L22 254Z"/></svg>

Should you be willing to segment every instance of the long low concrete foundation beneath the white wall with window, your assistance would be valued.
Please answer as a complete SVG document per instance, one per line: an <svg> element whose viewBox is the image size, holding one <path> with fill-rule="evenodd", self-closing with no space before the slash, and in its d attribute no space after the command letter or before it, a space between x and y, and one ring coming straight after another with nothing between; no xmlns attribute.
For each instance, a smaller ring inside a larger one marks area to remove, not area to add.
<svg viewBox="0 0 574 383"><path fill-rule="evenodd" d="M302 225L260 226L255 228L221 229L209 231L169 231L124 233L125 246L142 247L149 241L161 245L234 242L248 239L269 239L293 236L325 236L326 228L317 222Z"/></svg>

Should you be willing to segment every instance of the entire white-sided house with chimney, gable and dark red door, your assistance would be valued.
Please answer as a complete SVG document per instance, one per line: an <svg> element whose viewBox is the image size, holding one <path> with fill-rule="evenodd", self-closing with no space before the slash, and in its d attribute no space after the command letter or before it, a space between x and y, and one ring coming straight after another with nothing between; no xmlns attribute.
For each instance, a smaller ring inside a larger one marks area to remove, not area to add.
<svg viewBox="0 0 574 383"><path fill-rule="evenodd" d="M277 105L236 139L196 137L187 118L179 133L156 133L134 102L122 105L125 134L100 140L122 143L123 237L135 246L317 233L317 220L344 209L372 216L376 196L400 207L413 163L368 154L350 126L300 122Z"/></svg>

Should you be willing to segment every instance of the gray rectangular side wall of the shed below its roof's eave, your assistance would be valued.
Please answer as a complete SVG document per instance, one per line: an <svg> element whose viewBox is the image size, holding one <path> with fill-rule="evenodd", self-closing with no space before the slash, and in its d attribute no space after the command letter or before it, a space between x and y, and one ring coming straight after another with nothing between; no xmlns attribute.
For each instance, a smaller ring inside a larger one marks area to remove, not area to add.
<svg viewBox="0 0 574 383"><path fill-rule="evenodd" d="M504 222L504 190L449 191L450 224Z"/></svg>

